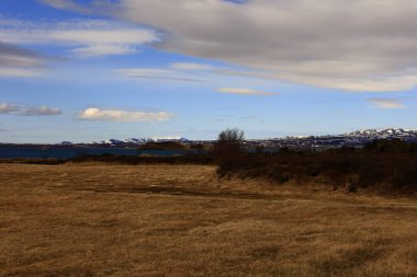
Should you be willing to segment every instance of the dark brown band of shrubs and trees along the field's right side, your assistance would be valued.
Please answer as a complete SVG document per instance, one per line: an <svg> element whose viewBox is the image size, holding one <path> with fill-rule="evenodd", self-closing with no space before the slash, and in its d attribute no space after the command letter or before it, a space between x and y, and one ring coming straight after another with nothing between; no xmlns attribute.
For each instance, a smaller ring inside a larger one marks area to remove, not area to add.
<svg viewBox="0 0 417 277"><path fill-rule="evenodd" d="M417 192L417 143L399 139L375 140L361 149L343 147L323 152L284 149L268 155L262 151L237 152L238 140L217 143L233 146L215 155L221 177L263 178L278 185L319 184L349 193Z"/></svg>

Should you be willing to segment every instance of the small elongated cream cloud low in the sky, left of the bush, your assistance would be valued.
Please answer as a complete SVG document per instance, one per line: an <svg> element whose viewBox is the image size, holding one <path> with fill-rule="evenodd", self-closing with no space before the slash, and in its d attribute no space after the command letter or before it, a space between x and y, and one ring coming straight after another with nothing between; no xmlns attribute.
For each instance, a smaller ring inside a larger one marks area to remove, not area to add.
<svg viewBox="0 0 417 277"><path fill-rule="evenodd" d="M173 117L167 112L100 109L89 107L78 113L78 118L105 122L165 122Z"/></svg>

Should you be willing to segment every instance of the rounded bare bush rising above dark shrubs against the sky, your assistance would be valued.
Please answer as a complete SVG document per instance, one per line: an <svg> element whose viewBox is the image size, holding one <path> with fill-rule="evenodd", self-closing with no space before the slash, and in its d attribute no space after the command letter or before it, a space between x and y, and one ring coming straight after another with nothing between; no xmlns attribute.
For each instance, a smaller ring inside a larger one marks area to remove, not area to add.
<svg viewBox="0 0 417 277"><path fill-rule="evenodd" d="M214 153L222 168L230 168L239 161L244 140L245 132L238 128L227 128L218 134Z"/></svg>

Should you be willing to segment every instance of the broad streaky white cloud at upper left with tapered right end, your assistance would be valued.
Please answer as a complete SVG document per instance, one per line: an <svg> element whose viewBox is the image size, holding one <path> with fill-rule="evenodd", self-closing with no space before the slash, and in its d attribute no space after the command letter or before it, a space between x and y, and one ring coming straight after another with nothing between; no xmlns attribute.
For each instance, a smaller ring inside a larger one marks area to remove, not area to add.
<svg viewBox="0 0 417 277"><path fill-rule="evenodd" d="M1 25L0 41L16 45L60 45L81 57L127 55L140 45L156 43L156 31L104 20L20 22Z"/></svg>

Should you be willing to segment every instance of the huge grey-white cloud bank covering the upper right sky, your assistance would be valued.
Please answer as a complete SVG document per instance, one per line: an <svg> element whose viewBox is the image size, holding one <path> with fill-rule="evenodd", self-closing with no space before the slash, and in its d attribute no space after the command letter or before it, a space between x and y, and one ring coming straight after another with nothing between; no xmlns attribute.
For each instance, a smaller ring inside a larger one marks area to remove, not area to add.
<svg viewBox="0 0 417 277"><path fill-rule="evenodd" d="M417 84L417 2L412 0L101 3L108 14L167 32L157 44L161 49L263 70L268 78L370 92Z"/></svg>

